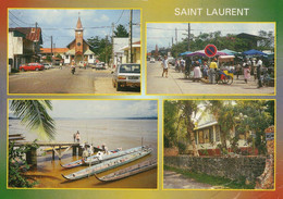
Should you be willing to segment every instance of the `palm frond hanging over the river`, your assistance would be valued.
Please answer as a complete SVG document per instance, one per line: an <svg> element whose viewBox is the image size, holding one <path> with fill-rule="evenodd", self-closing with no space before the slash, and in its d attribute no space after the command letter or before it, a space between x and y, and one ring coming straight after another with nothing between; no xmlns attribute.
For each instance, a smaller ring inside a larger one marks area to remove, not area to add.
<svg viewBox="0 0 283 199"><path fill-rule="evenodd" d="M52 110L50 100L12 100L10 110L29 130L50 140L54 139L56 124L48 114L48 110Z"/></svg>

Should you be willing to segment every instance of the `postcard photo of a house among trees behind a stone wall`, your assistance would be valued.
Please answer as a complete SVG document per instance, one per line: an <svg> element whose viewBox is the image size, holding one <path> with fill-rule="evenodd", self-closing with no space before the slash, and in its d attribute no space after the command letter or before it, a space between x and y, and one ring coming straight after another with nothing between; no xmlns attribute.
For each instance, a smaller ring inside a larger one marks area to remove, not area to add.
<svg viewBox="0 0 283 199"><path fill-rule="evenodd" d="M274 100L164 100L164 189L274 190Z"/></svg>

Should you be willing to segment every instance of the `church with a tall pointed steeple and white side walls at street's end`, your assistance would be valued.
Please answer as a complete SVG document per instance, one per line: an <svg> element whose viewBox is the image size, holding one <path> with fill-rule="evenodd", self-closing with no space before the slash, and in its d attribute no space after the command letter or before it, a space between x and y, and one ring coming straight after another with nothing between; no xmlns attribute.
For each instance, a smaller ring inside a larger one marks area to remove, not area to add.
<svg viewBox="0 0 283 199"><path fill-rule="evenodd" d="M94 64L96 61L95 53L89 49L89 43L84 39L84 28L78 16L75 39L70 42L66 48L69 49L64 55L64 63L71 64L74 60L76 64L85 62L87 64Z"/></svg>

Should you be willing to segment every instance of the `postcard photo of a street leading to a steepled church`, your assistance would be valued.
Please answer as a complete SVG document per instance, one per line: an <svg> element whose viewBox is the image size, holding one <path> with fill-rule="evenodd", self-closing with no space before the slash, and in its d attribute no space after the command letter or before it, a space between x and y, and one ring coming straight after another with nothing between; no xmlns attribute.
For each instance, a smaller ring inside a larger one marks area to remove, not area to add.
<svg viewBox="0 0 283 199"><path fill-rule="evenodd" d="M9 94L140 94L140 10L9 9Z"/></svg>

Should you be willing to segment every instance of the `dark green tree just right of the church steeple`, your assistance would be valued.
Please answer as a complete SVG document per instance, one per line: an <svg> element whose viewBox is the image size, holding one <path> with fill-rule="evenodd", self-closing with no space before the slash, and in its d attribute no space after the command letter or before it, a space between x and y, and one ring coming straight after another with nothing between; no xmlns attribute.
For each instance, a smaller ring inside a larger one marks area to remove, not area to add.
<svg viewBox="0 0 283 199"><path fill-rule="evenodd" d="M98 60L109 63L112 54L112 43L108 36L99 38L98 36L87 39L90 50L95 52Z"/></svg>

